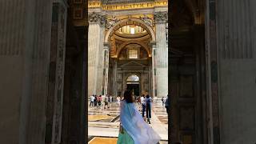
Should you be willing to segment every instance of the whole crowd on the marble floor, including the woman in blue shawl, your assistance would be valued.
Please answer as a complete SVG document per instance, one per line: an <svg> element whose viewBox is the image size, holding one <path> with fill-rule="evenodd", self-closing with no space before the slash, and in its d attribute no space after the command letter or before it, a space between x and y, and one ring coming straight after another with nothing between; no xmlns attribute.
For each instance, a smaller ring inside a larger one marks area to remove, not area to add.
<svg viewBox="0 0 256 144"><path fill-rule="evenodd" d="M91 95L90 106L104 106L104 109L110 108L114 102L111 95ZM156 144L159 143L159 135L148 125L150 124L151 109L153 99L149 94L142 94L141 97L133 97L130 91L126 91L121 98L115 99L120 107L120 130L118 135L118 144ZM138 106L136 106L137 104ZM168 96L166 100L162 97L162 106L169 111ZM139 112L141 109L141 113Z"/></svg>

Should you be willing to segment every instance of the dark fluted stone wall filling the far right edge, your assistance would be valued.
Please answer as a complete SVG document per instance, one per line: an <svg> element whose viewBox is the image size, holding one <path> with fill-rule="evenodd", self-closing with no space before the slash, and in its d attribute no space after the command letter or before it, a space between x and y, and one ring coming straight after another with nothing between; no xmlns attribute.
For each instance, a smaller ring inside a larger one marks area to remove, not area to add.
<svg viewBox="0 0 256 144"><path fill-rule="evenodd" d="M220 138L255 143L256 10L254 0L217 3Z"/></svg>

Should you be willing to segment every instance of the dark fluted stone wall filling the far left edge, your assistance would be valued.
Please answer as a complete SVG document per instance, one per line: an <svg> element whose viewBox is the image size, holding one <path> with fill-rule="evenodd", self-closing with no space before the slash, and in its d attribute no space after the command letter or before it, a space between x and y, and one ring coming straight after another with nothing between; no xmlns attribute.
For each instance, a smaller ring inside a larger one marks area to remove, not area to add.
<svg viewBox="0 0 256 144"><path fill-rule="evenodd" d="M0 143L44 143L52 1L0 2Z"/></svg>

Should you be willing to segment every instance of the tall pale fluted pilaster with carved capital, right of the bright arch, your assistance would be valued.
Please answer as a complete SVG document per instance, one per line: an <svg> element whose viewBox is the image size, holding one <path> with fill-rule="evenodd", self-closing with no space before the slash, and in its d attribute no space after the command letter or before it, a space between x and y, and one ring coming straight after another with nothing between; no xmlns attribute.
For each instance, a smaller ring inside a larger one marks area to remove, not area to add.
<svg viewBox="0 0 256 144"><path fill-rule="evenodd" d="M166 22L167 12L154 13L156 27L156 82L157 82L157 97L166 97L168 94L168 46L166 45Z"/></svg>

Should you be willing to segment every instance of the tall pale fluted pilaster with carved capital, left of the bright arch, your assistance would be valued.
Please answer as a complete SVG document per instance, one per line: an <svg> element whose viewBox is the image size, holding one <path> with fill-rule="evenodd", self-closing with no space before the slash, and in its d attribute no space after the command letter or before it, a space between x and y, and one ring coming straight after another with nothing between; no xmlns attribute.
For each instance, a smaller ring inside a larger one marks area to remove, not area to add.
<svg viewBox="0 0 256 144"><path fill-rule="evenodd" d="M99 13L89 14L88 32L88 94L97 94L98 64L102 47L102 27L104 17Z"/></svg>

